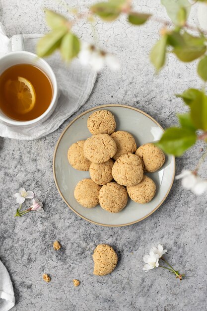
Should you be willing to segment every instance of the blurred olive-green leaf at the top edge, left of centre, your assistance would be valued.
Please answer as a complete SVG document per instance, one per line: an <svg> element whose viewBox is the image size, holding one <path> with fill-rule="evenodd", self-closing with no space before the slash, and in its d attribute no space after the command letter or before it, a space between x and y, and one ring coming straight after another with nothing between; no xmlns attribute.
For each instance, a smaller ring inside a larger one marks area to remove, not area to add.
<svg viewBox="0 0 207 311"><path fill-rule="evenodd" d="M121 13L119 1L99 2L92 5L90 9L93 13L106 21L115 20Z"/></svg>

